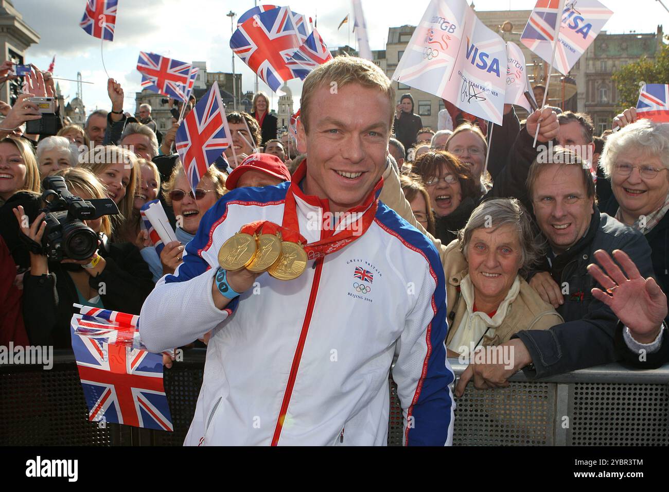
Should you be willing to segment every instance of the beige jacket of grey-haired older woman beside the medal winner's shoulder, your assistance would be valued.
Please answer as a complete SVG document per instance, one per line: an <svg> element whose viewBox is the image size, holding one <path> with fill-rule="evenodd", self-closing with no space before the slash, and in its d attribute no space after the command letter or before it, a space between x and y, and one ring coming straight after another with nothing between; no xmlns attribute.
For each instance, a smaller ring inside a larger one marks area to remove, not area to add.
<svg viewBox="0 0 669 492"><path fill-rule="evenodd" d="M460 326L462 317L467 312L466 303L459 292L460 281L467 274L467 262L460 251L458 241L455 240L451 244L448 244L448 246L445 246L416 222L411 212L411 206L409 206L409 202L404 197L404 193L399 185L399 176L397 176L390 166L383 173L383 189L381 189L379 199L397 212L401 218L423 232L423 234L432 240L439 252L446 276L446 300L448 303L448 325L450 327L448 337L446 338L446 345L448 345L455 334L455 329ZM529 329L545 330L563 323L563 321L562 317L553 309L553 306L543 301L537 291L521 278L520 292L512 305L510 305L504 323L496 329L495 336L492 339L486 337L484 345L498 345L499 343L508 341L518 331Z"/></svg>

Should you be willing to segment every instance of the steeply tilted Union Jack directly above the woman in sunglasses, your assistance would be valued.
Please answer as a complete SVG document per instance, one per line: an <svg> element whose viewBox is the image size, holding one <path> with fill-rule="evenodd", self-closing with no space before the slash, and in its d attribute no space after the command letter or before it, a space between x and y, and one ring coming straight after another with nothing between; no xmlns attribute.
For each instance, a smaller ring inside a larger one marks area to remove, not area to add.
<svg viewBox="0 0 669 492"><path fill-rule="evenodd" d="M230 135L221 92L217 82L214 82L177 130L177 153L193 189L209 166L232 145Z"/></svg>

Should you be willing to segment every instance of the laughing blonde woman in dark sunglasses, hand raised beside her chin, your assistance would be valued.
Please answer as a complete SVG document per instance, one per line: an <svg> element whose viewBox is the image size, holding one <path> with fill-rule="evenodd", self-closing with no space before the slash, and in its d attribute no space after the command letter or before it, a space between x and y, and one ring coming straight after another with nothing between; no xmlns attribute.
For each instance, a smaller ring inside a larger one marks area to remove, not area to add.
<svg viewBox="0 0 669 492"><path fill-rule="evenodd" d="M195 237L202 217L227 192L226 178L225 173L211 166L193 193L183 172L183 166L181 163L175 166L169 180L163 185L163 191L165 191L167 205L172 207L177 218L177 230L175 231L177 241L165 244L161 252L163 275L174 273L177 266L181 264L184 246Z"/></svg>

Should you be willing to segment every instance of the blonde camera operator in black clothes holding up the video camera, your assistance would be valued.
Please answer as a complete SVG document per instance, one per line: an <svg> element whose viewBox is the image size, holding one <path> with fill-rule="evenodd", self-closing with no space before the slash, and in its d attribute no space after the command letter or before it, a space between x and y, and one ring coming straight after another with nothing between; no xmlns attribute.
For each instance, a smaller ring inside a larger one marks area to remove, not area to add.
<svg viewBox="0 0 669 492"><path fill-rule="evenodd" d="M104 187L87 169L59 171L73 195L82 199L105 198ZM27 227L23 207L14 209L21 232L41 242L45 230L41 213ZM98 251L86 260L66 258L60 262L30 252L30 272L23 278L23 319L33 345L69 348L72 304L104 307L124 313L139 313L153 288L151 272L131 243L110 244L110 216L84 222L100 234Z"/></svg>

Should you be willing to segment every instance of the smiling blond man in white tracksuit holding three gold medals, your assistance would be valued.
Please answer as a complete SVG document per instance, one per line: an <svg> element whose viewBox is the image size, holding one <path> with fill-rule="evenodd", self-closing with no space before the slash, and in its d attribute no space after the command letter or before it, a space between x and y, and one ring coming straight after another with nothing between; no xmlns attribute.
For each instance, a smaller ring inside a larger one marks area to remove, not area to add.
<svg viewBox="0 0 669 492"><path fill-rule="evenodd" d="M444 269L377 199L394 101L367 60L311 72L293 181L221 197L145 302L151 351L213 330L185 444L386 444L393 362L405 444L451 444Z"/></svg>

